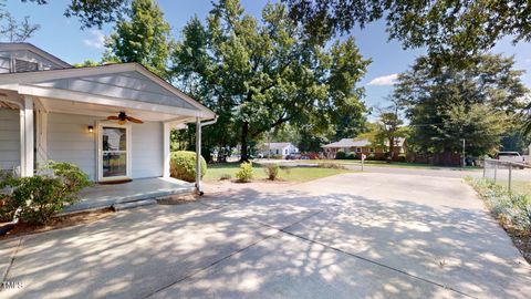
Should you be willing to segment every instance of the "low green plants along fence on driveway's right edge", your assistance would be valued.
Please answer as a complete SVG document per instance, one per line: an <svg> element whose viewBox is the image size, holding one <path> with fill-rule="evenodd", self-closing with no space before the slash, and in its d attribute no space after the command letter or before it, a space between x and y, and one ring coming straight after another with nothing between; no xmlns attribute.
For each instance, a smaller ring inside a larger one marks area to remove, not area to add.
<svg viewBox="0 0 531 299"><path fill-rule="evenodd" d="M503 226L531 234L531 198L529 196L510 193L491 179L468 177L467 181L487 202L490 210Z"/></svg>

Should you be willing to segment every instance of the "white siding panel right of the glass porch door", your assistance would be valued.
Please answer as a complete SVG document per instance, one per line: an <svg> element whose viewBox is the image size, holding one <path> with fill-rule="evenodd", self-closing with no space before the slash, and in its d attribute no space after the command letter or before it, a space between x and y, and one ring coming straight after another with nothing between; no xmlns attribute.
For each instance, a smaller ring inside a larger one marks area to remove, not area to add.
<svg viewBox="0 0 531 299"><path fill-rule="evenodd" d="M133 178L163 176L163 123L132 124L131 147Z"/></svg>

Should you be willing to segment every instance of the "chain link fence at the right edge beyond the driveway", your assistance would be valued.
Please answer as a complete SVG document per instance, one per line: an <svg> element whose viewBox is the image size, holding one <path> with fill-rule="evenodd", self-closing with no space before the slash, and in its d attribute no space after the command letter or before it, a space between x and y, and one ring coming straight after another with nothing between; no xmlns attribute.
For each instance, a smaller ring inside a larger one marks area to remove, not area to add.
<svg viewBox="0 0 531 299"><path fill-rule="evenodd" d="M531 183L529 168L530 166L523 163L486 158L483 159L483 178L490 178L498 185L512 190L522 184Z"/></svg>

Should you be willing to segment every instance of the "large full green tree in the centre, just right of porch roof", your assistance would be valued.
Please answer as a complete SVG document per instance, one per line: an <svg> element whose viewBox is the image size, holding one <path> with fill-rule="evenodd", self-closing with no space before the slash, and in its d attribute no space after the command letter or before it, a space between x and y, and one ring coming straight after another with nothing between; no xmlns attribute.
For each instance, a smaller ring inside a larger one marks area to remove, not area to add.
<svg viewBox="0 0 531 299"><path fill-rule="evenodd" d="M330 48L308 42L282 4L266 6L258 21L238 0L222 0L207 25L194 18L183 37L174 75L227 120L218 127L238 132L243 161L250 143L285 123L312 123L319 133L365 111L356 83L369 61L354 39Z"/></svg>

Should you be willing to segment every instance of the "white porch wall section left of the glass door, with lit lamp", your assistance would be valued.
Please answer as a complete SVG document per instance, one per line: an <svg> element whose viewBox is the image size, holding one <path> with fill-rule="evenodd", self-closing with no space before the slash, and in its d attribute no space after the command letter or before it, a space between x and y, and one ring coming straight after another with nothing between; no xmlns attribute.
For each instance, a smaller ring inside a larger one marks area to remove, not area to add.
<svg viewBox="0 0 531 299"><path fill-rule="evenodd" d="M70 162L81 167L91 179L96 179L96 133L88 133L97 117L50 113L48 115L48 157Z"/></svg>

